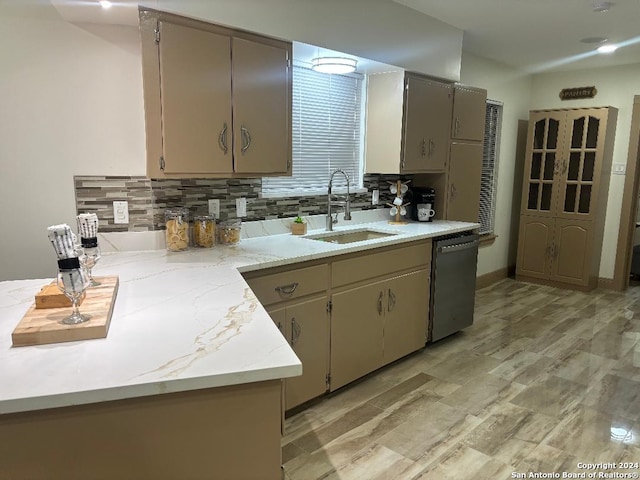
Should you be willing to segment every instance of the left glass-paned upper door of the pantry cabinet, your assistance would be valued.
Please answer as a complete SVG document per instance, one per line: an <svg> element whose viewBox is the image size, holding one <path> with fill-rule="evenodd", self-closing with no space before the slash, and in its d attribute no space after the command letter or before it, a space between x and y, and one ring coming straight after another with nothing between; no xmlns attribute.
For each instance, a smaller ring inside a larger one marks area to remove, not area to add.
<svg viewBox="0 0 640 480"><path fill-rule="evenodd" d="M554 177L564 141L565 112L536 112L531 115L522 212L551 215L554 205Z"/></svg>

